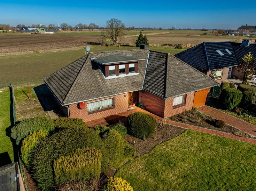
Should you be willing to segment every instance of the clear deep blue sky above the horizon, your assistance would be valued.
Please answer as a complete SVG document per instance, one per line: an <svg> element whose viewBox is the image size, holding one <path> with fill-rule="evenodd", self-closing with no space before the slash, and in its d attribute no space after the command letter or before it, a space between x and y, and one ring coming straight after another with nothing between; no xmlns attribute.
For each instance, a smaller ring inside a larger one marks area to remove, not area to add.
<svg viewBox="0 0 256 191"><path fill-rule="evenodd" d="M206 27L237 29L256 25L255 4L243 1L54 1L0 0L0 23L10 25L43 25L93 22L105 26L106 20L118 18L126 26L176 28Z"/></svg>

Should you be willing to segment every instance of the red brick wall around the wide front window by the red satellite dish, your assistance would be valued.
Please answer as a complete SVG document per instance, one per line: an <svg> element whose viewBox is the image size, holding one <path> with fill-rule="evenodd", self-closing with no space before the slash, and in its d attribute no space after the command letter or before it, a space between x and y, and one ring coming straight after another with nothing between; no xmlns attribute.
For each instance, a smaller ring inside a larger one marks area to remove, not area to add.
<svg viewBox="0 0 256 191"><path fill-rule="evenodd" d="M126 95L126 97L124 95ZM87 111L87 104L84 109L80 109L79 103L69 105L70 118L80 118L84 122L87 122L87 121L91 121L94 119L99 119L102 117L108 117L111 115L115 115L115 114L125 112L128 110L128 93L110 96L110 97L101 98L101 99L96 99L96 100L88 101L86 103L94 102L97 100L103 100L103 99L107 99L107 98L112 98L112 97L114 97L114 107L115 108L110 109L110 110L100 111L100 112L89 114L89 115L88 115L88 111Z"/></svg>

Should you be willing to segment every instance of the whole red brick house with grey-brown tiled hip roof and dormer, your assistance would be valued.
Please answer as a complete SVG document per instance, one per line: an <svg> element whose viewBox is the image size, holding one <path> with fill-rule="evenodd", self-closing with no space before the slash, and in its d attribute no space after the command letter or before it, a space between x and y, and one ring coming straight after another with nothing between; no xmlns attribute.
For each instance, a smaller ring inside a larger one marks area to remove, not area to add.
<svg viewBox="0 0 256 191"><path fill-rule="evenodd" d="M84 122L138 103L169 117L204 105L219 85L175 56L149 49L88 53L43 81L63 113Z"/></svg>

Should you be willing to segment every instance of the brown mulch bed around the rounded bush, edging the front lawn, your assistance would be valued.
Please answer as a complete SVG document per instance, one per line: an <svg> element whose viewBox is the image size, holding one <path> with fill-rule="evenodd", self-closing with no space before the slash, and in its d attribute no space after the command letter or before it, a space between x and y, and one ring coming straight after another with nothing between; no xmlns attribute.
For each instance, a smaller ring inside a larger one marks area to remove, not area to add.
<svg viewBox="0 0 256 191"><path fill-rule="evenodd" d="M182 134L184 131L186 131L186 129L165 124L162 127L158 125L154 135L151 138L146 139L145 141L130 135L125 135L124 139L128 142L129 145L136 148L135 157L137 157L149 153L156 145L175 138ZM108 169L105 174L107 177L111 177L115 174L116 171L117 169Z"/></svg>

